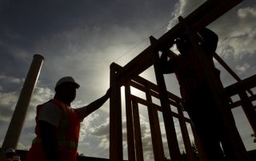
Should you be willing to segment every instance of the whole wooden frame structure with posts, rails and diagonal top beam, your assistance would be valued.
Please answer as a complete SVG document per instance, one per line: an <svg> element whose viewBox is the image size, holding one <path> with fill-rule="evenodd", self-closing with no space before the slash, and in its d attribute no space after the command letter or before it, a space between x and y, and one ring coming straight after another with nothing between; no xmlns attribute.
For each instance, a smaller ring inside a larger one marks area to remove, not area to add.
<svg viewBox="0 0 256 161"><path fill-rule="evenodd" d="M120 161L123 159L122 151L122 103L121 103L121 87L125 86L126 93L126 123L127 123L127 143L128 143L128 159L129 160L143 160L142 139L140 132L138 104L144 104L148 108L150 119L150 132L152 137L152 144L154 149L155 160L165 160L162 137L158 121L158 111L162 112L165 128L166 139L168 143L168 150L172 160L182 160L182 156L178 147L178 139L174 128L173 117L178 118L182 131L182 138L186 148L188 160L194 160L194 155L191 149L190 137L186 123L190 123L189 118L183 116L182 108L179 106L181 99L171 92L166 90L164 77L159 67L159 52L170 49L171 41L177 37L178 33L186 31L189 33L190 40L194 48L198 50L198 61L205 67L204 73L206 74L207 81L210 84L211 91L214 94L214 100L218 104L218 110L222 113L222 120L225 122L226 134L230 137L230 143L234 147L233 151L236 154L238 161L250 160L246 148L242 143L242 139L238 134L238 130L233 126L232 114L230 108L242 106L246 116L250 122L251 127L256 133L256 113L252 101L256 100L256 96L250 91L251 88L256 86L256 76L249 77L246 80L240 80L235 73L225 64L224 61L217 54L214 55L215 59L238 81L227 88L218 88L214 83L213 73L210 72L210 67L202 57L202 49L194 41L194 32L214 22L215 19L226 13L233 6L237 5L240 0L215 0L206 1L197 10L186 18L179 18L178 25L170 29L166 34L158 40L151 37L151 45L146 48L142 53L135 57L124 67L117 64L110 65L110 86L113 92L110 96L110 160ZM154 40L154 41L153 41ZM154 73L156 76L157 84L146 81L138 75L154 65ZM130 86L138 88L146 93L146 100L138 98L130 94ZM217 89L217 90L216 90ZM250 93L247 95L246 91ZM241 100L236 102L224 102L222 96L230 97L238 94ZM152 102L152 96L160 100L161 106ZM170 105L178 109L178 113L172 112ZM224 107L224 108L223 108ZM224 110L223 110L224 109ZM200 143L197 136L194 134L196 144L198 145L199 155L202 160L204 159L203 149L200 148Z"/></svg>

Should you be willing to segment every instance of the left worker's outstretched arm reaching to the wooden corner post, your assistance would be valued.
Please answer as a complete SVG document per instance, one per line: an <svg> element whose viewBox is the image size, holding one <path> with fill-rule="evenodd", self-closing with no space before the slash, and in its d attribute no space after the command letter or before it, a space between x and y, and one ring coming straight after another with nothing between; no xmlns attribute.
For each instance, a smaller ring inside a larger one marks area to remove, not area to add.
<svg viewBox="0 0 256 161"><path fill-rule="evenodd" d="M94 100L94 102L82 107L82 108L76 108L76 111L78 112L78 116L81 120L83 120L86 116L90 115L90 113L94 112L98 108L102 107L102 104L106 102L110 98L110 92L111 88L109 88L106 92L106 94L102 97L100 97L98 100Z"/></svg>

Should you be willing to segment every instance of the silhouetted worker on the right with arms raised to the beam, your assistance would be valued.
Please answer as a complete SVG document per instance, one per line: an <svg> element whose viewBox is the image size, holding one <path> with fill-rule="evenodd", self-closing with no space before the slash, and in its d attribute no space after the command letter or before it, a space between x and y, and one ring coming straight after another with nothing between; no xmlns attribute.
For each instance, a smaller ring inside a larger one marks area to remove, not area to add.
<svg viewBox="0 0 256 161"><path fill-rule="evenodd" d="M213 54L218 45L218 35L210 29L204 28L198 32L198 40L200 40L198 44L206 53L206 61L211 66L215 81L222 85L220 71L214 67L213 61ZM196 51L186 33L177 37L174 43L180 54L168 59L168 52L162 53L162 73L175 73L180 85L183 107L194 124L208 160L219 161L227 160L227 158L232 160L230 147L223 132L224 125L221 115L206 81L203 67L194 54ZM222 147L226 147L225 154Z"/></svg>

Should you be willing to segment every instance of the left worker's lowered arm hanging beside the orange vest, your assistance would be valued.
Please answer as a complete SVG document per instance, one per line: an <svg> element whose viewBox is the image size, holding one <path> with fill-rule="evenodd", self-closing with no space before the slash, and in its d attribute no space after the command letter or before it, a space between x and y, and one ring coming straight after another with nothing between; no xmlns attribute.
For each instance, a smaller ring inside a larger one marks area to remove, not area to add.
<svg viewBox="0 0 256 161"><path fill-rule="evenodd" d="M42 148L46 154L47 161L59 161L56 127L43 120L38 121L38 126L42 138Z"/></svg>

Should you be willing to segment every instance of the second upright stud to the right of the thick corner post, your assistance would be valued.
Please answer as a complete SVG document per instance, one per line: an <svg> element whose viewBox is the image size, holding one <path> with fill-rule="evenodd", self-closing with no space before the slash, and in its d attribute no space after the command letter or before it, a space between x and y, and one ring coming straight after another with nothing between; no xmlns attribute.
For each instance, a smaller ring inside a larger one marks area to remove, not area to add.
<svg viewBox="0 0 256 161"><path fill-rule="evenodd" d="M134 135L135 135L135 148L136 148L136 161L143 161L143 149L142 149L142 132L139 122L138 102L132 99L133 114L134 114Z"/></svg>

